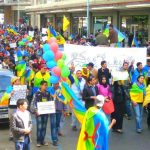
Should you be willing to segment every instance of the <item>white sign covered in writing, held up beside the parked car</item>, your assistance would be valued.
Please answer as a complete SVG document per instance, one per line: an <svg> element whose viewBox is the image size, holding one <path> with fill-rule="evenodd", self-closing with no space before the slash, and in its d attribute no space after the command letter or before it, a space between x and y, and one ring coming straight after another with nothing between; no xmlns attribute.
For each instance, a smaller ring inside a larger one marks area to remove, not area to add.
<svg viewBox="0 0 150 150"><path fill-rule="evenodd" d="M10 105L16 105L18 99L25 99L27 96L27 85L14 85L13 95L10 98Z"/></svg>

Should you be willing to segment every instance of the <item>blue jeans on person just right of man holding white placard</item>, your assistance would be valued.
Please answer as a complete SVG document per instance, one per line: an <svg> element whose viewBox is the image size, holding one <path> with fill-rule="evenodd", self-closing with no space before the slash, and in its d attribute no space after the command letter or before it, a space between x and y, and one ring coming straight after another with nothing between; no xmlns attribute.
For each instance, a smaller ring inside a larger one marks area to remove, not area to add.
<svg viewBox="0 0 150 150"><path fill-rule="evenodd" d="M60 128L62 111L56 111L55 114L50 114L51 138L52 141L58 141L58 131Z"/></svg>

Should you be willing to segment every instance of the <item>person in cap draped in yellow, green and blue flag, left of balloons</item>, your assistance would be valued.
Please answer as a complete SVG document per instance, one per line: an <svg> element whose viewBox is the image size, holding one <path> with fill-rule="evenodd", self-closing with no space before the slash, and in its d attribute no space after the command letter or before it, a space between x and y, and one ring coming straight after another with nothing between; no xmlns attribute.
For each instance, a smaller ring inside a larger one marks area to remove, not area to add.
<svg viewBox="0 0 150 150"><path fill-rule="evenodd" d="M41 69L40 71L38 71L35 74L35 78L34 78L34 88L33 88L33 92L35 93L38 88L40 87L40 83L41 81L46 81L47 82L47 86L50 87L50 73L47 71L47 66L46 64L42 64L41 65Z"/></svg>

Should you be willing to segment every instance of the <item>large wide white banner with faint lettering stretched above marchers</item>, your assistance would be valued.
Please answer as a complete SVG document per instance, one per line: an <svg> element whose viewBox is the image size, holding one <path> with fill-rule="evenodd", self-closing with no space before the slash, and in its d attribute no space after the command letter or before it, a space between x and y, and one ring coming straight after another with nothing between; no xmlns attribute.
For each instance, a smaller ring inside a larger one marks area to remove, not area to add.
<svg viewBox="0 0 150 150"><path fill-rule="evenodd" d="M73 44L65 44L64 52L67 55L66 63L68 66L73 62L76 69L81 69L83 64L93 62L95 68L101 67L101 61L107 61L108 68L120 70L124 60L131 63L134 61L146 64L146 48L111 48L111 47L92 47Z"/></svg>

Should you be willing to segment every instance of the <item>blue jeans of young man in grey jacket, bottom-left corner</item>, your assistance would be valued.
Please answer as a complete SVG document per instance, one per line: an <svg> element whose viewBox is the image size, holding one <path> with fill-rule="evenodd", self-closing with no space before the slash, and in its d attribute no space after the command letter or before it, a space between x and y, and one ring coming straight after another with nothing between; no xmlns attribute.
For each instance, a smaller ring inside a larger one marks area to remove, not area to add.
<svg viewBox="0 0 150 150"><path fill-rule="evenodd" d="M16 148L16 150L30 150L29 136L28 135L25 136L24 142L16 142L15 148Z"/></svg>

